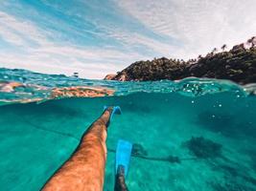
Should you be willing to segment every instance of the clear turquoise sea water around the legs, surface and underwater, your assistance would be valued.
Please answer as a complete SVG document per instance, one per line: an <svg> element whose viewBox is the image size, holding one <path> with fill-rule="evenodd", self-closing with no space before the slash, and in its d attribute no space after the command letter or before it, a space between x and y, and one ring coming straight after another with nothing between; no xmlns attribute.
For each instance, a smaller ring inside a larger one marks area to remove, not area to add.
<svg viewBox="0 0 256 191"><path fill-rule="evenodd" d="M103 106L113 104L120 105L123 114L115 116L108 129L105 190L113 190L112 151L119 138L140 144L144 157L160 159L131 158L129 190L256 190L253 85L209 79L120 83L0 72L0 80L27 84L0 93L1 190L39 190L70 157ZM51 88L71 85L103 86L116 94L48 100ZM22 97L47 101L12 103ZM180 162L161 160L169 156Z"/></svg>

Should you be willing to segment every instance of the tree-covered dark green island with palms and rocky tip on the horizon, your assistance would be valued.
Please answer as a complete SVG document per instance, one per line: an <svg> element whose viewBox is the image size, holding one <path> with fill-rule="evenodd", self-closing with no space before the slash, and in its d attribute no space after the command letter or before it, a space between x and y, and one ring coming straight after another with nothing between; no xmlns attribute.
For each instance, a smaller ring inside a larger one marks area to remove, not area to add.
<svg viewBox="0 0 256 191"><path fill-rule="evenodd" d="M198 55L198 58L137 61L117 74L107 74L107 80L119 81L155 81L161 79L179 80L185 77L206 77L229 79L239 84L256 82L256 36L245 43L226 51L227 45L221 46L221 52L214 48L211 53Z"/></svg>

